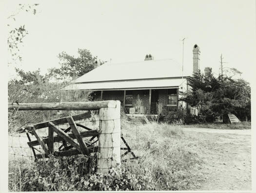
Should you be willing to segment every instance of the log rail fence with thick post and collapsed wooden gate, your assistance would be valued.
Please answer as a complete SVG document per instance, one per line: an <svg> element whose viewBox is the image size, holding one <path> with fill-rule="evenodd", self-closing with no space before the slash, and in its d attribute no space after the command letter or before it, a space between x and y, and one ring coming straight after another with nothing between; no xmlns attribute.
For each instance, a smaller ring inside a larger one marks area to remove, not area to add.
<svg viewBox="0 0 256 193"><path fill-rule="evenodd" d="M28 146L32 149L35 159L73 156L83 154L87 157L91 153L98 152L98 173L108 173L110 168L121 164L120 158L131 153L137 158L120 132L120 102L63 102L63 103L36 103L36 104L9 104L9 110L88 110L74 116L63 117L56 120L37 123L23 127L20 132L25 132L28 137ZM79 120L91 118L89 110L99 110L99 129L92 130L85 125L78 123ZM66 129L59 128L59 125L69 124ZM48 128L48 136L40 137L38 129ZM85 131L81 131L81 129ZM69 134L68 134L69 132ZM71 133L72 132L72 133ZM56 133L57 135L54 135ZM31 140L29 134L37 140ZM83 138L90 137L89 140ZM126 147L120 147L120 139ZM56 151L55 142L62 143ZM98 146L96 146L98 142ZM68 145L69 144L69 145ZM40 145L43 152L35 146ZM36 154L39 151L40 154ZM127 150L122 156L121 150Z"/></svg>

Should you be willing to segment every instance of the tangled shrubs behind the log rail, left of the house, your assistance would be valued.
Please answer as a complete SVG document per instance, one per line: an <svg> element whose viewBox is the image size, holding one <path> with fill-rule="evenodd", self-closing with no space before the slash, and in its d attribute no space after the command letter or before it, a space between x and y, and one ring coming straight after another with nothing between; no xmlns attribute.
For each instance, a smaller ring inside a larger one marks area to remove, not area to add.
<svg viewBox="0 0 256 193"><path fill-rule="evenodd" d="M16 69L20 79L8 82L9 103L55 103L83 102L91 100L90 91L63 91L68 82L50 82L48 75L41 75L40 70L24 72ZM71 113L71 112L66 112ZM57 111L9 111L9 132L16 131L20 126L57 119ZM63 116L63 115L62 115Z"/></svg>

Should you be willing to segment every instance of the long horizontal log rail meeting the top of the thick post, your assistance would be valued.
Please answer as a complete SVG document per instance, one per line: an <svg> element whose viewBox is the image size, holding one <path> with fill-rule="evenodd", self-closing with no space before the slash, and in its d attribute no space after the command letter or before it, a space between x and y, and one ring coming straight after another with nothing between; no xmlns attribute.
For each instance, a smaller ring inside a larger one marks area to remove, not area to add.
<svg viewBox="0 0 256 193"><path fill-rule="evenodd" d="M9 110L98 110L116 108L116 101L8 104Z"/></svg>

